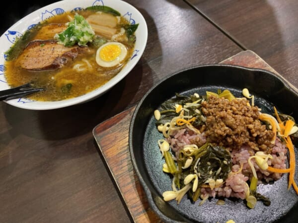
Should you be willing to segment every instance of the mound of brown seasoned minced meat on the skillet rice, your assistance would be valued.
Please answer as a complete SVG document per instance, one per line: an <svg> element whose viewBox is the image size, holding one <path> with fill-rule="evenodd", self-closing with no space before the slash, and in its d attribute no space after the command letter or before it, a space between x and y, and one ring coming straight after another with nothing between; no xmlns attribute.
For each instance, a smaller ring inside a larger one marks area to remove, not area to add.
<svg viewBox="0 0 298 223"><path fill-rule="evenodd" d="M266 129L258 119L259 111L248 106L248 101L228 101L211 96L202 103L202 112L207 117L206 137L208 141L229 148L248 145L251 148L269 150L274 133Z"/></svg>

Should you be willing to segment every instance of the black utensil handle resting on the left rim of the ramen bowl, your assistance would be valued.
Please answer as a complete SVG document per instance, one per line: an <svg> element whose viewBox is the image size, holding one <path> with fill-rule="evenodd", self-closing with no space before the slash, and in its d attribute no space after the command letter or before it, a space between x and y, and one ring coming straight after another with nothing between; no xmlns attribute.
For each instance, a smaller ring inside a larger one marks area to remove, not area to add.
<svg viewBox="0 0 298 223"><path fill-rule="evenodd" d="M0 101L21 98L34 92L43 91L43 88L32 88L30 83L0 91Z"/></svg>

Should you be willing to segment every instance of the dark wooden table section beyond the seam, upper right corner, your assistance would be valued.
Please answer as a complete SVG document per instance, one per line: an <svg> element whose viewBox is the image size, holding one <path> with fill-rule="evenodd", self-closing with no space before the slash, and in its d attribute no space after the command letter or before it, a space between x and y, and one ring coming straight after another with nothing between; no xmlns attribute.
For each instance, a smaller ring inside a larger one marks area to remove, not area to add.
<svg viewBox="0 0 298 223"><path fill-rule="evenodd" d="M297 0L186 0L298 87Z"/></svg>

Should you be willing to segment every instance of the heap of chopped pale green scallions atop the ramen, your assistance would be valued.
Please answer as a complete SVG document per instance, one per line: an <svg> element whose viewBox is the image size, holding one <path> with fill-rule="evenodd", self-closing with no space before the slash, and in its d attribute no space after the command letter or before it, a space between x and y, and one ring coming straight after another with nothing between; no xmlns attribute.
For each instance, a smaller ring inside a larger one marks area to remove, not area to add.
<svg viewBox="0 0 298 223"><path fill-rule="evenodd" d="M54 38L58 40L59 44L72 47L74 44L86 46L88 42L92 42L94 36L95 33L89 23L83 16L76 13L74 20L69 22L68 28L56 34Z"/></svg>

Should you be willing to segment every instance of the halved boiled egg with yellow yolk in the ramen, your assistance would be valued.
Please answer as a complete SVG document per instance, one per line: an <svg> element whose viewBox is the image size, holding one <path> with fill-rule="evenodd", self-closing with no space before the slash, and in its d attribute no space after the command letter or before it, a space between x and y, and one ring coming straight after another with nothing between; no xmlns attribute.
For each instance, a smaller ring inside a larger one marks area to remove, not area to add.
<svg viewBox="0 0 298 223"><path fill-rule="evenodd" d="M96 51L96 62L99 66L112 67L121 63L127 56L127 48L122 43L109 42Z"/></svg>

